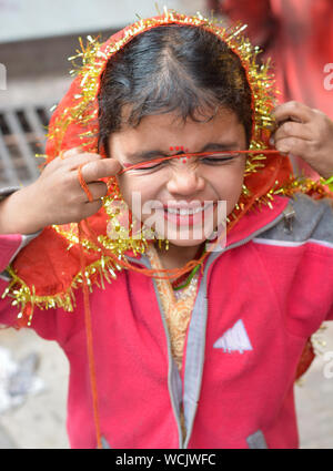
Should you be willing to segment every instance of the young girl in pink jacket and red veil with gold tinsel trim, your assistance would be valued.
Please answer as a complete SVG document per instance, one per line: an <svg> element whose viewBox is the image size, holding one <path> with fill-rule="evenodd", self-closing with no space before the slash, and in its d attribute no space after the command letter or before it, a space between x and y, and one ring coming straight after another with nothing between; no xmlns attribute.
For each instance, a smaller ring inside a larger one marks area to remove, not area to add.
<svg viewBox="0 0 333 471"><path fill-rule="evenodd" d="M333 318L333 216L285 154L329 178L333 123L294 102L273 115L256 52L169 11L89 38L48 165L0 205L0 318L67 355L73 448L297 447L293 385Z"/></svg>

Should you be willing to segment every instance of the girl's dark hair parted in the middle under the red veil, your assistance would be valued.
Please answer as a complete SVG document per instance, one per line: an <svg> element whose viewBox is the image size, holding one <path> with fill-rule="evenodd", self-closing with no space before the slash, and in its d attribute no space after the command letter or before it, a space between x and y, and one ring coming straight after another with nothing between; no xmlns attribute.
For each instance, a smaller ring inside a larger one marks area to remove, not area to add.
<svg viewBox="0 0 333 471"><path fill-rule="evenodd" d="M239 57L203 28L170 24L133 38L107 63L99 100L99 149L127 123L175 112L184 121L232 111L251 140L251 89ZM127 113L124 113L127 106ZM124 114L127 116L124 117Z"/></svg>

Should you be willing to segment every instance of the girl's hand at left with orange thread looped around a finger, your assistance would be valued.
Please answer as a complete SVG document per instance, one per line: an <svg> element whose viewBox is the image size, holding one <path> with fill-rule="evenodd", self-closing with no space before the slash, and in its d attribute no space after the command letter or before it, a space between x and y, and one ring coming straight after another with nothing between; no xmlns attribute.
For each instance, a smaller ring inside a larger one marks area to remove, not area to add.
<svg viewBox="0 0 333 471"><path fill-rule="evenodd" d="M78 178L81 168L93 201L89 202ZM102 206L107 184L121 165L114 158L72 149L50 162L40 177L0 203L0 234L33 234L52 224L78 223Z"/></svg>

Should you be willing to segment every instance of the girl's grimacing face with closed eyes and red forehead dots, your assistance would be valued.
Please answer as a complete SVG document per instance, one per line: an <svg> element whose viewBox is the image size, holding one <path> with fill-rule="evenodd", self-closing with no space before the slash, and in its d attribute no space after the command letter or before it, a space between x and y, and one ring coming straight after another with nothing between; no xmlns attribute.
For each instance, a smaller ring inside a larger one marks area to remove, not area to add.
<svg viewBox="0 0 333 471"><path fill-rule="evenodd" d="M145 226L179 247L202 244L210 225L215 231L218 202L225 201L226 215L232 212L242 192L245 156L225 151L245 149L245 130L225 107L208 122L184 123L173 113L145 116L137 127L124 125L109 139L109 155L124 168L144 162L118 177L124 201ZM181 155L210 151L224 154ZM175 154L180 157L149 162Z"/></svg>

